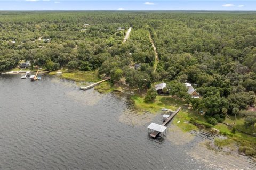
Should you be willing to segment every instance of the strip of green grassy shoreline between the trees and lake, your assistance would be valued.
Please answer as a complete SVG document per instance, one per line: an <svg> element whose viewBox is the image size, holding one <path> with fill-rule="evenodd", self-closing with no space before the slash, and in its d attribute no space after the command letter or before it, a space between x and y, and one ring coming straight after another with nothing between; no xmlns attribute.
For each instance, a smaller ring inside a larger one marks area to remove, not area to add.
<svg viewBox="0 0 256 170"><path fill-rule="evenodd" d="M98 75L98 71L78 71L78 70L60 70L62 73L60 74L60 78L68 79L68 80L74 80L77 82L78 86L81 84L88 84L90 82L97 82L100 79L100 76ZM47 72L47 71L46 71ZM52 71L49 73L49 75L56 75L58 71ZM51 74L53 73L53 74ZM100 93L108 93L112 91L118 91L118 92L127 92L130 94L130 91L136 91L134 89L131 89L130 87L126 87L125 85L121 84L113 84L111 82L103 82L102 84L99 84L94 88L96 91ZM189 108L188 105L183 103L180 99L172 99L170 96L161 96L158 95L156 97L156 100L152 103L145 103L143 92L140 94L131 94L130 100L132 101L132 104L136 109L138 109L139 114L143 114L143 112L147 111L150 114L159 114L159 111L161 111L162 108L167 108L171 110L177 109L179 106L182 107L179 114L177 114L173 118L173 124L177 125L183 132L190 132L190 131L197 131L198 129L206 129L207 131L211 133L217 133L225 135L229 140L229 142L226 143L226 145L230 145L230 143L237 142L238 145L243 146L249 146L253 148L253 146L256 145L256 139L255 137L249 137L248 135L242 133L242 132L236 132L236 134L232 134L230 131L231 129L228 128L228 126L219 123L213 128L205 128L205 125L202 125L203 123L207 123L205 118L202 115L199 115L195 111ZM191 118L194 118L197 122L193 123L191 122ZM177 123L180 121L179 123ZM199 123L198 123L199 122ZM200 123L202 122L202 123ZM215 129L215 130L214 130ZM225 132L225 133L223 133ZM254 138L254 139L252 139ZM245 154L245 153L244 153Z"/></svg>

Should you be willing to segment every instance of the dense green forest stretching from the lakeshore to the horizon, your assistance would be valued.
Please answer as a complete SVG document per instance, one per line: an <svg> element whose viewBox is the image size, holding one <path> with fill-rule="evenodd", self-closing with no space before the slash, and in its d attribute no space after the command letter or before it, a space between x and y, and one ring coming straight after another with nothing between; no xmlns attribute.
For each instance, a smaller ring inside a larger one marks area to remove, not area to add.
<svg viewBox="0 0 256 170"><path fill-rule="evenodd" d="M150 36L159 55L155 72ZM49 70L98 70L139 90L166 82L170 95L205 111L211 124L237 114L247 126L256 123L255 112L246 111L256 100L254 13L3 11L0 44L1 72L30 61ZM202 97L187 95L185 82Z"/></svg>

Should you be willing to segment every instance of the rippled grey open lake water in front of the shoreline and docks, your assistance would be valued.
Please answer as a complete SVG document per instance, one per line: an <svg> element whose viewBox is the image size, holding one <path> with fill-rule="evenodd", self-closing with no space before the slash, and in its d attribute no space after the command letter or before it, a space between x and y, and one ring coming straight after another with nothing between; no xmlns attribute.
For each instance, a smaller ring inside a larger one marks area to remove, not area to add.
<svg viewBox="0 0 256 170"><path fill-rule="evenodd" d="M0 169L211 169L186 152L207 135L173 145L148 137L161 115L136 125L123 115L138 116L125 94L0 75Z"/></svg>

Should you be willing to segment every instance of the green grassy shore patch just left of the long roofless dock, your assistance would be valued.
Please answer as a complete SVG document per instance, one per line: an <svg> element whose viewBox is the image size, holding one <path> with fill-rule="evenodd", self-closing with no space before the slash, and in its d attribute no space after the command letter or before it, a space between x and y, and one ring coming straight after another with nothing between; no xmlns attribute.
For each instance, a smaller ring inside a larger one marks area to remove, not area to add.
<svg viewBox="0 0 256 170"><path fill-rule="evenodd" d="M82 84L88 82L98 82L100 77L98 71L78 71L78 70L67 70L62 72L61 78L74 80L76 82L81 82Z"/></svg>

